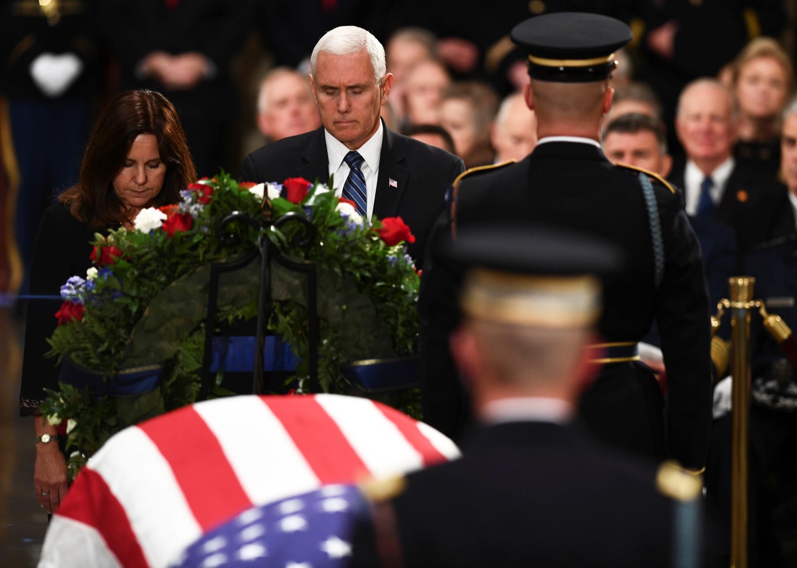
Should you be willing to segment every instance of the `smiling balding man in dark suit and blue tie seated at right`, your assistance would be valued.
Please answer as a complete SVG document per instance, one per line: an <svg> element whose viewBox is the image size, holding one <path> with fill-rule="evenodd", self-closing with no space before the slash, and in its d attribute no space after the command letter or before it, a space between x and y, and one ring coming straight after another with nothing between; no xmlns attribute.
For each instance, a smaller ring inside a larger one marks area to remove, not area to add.
<svg viewBox="0 0 797 568"><path fill-rule="evenodd" d="M681 92L675 125L686 162L673 167L669 181L684 189L686 213L731 227L743 253L775 236L782 192L733 159L734 105L728 88L713 79L693 81Z"/></svg>

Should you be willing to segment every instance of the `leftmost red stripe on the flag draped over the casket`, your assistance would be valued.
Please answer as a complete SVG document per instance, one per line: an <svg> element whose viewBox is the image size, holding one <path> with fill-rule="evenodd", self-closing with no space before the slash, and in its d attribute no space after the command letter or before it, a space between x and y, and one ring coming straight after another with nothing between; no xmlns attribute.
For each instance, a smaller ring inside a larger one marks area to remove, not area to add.
<svg viewBox="0 0 797 568"><path fill-rule="evenodd" d="M99 473L83 468L57 515L95 528L125 568L149 568L124 507Z"/></svg>

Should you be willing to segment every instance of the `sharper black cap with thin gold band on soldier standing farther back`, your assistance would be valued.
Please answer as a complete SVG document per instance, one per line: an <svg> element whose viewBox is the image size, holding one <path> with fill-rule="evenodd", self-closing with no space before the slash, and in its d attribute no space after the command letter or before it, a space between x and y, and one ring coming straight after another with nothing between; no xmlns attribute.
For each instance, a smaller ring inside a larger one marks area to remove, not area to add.
<svg viewBox="0 0 797 568"><path fill-rule="evenodd" d="M558 83L606 79L617 67L614 52L632 37L619 20L581 12L545 14L512 29L512 41L528 51L532 79Z"/></svg>

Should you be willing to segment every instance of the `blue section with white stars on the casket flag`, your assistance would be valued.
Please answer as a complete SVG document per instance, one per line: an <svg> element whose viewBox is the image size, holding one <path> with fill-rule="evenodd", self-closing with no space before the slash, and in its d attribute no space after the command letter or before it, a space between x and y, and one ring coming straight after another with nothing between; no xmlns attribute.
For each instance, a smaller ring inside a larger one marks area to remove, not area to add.
<svg viewBox="0 0 797 568"><path fill-rule="evenodd" d="M359 491L327 485L253 507L190 545L175 568L344 568L355 519L367 518Z"/></svg>

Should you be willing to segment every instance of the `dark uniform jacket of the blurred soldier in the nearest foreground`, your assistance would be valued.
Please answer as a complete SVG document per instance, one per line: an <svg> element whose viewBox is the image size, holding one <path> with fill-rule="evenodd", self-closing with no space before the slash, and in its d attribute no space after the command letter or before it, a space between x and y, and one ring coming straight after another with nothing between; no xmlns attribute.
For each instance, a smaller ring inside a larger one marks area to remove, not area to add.
<svg viewBox="0 0 797 568"><path fill-rule="evenodd" d="M402 566L671 566L673 501L654 468L572 425L478 430L464 456L407 477L392 502Z"/></svg>

